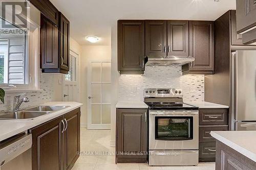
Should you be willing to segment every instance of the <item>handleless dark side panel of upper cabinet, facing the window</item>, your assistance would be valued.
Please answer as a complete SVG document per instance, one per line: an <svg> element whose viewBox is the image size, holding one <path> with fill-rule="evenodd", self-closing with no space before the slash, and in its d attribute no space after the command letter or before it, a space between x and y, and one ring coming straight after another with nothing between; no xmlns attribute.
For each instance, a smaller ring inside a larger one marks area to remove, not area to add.
<svg viewBox="0 0 256 170"><path fill-rule="evenodd" d="M40 68L58 68L58 27L41 15Z"/></svg>

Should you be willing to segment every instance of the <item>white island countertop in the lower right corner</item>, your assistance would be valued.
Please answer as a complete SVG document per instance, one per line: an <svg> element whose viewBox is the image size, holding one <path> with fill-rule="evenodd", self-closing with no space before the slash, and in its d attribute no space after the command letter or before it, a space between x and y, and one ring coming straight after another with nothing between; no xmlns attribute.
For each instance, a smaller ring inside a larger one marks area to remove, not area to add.
<svg viewBox="0 0 256 170"><path fill-rule="evenodd" d="M211 131L210 135L256 162L256 131Z"/></svg>

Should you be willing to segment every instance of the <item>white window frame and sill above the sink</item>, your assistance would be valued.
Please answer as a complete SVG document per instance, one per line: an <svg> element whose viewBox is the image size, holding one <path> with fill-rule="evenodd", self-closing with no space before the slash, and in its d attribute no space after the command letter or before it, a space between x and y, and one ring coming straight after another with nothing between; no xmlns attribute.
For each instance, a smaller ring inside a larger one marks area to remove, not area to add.
<svg viewBox="0 0 256 170"><path fill-rule="evenodd" d="M2 83L0 88L3 88L7 92L14 91L35 91L39 89L39 39L40 39L40 26L30 22L30 27L34 28L34 32L28 31L27 34L27 60L25 68L27 68L27 84L9 84ZM31 64L30 64L31 63ZM24 75L25 76L25 75Z"/></svg>

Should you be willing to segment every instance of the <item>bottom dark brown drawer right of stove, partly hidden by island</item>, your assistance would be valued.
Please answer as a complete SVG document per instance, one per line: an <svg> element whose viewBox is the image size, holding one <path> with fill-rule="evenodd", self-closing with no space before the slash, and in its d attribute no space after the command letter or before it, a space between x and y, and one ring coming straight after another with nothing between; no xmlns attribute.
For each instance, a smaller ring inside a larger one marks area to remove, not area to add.
<svg viewBox="0 0 256 170"><path fill-rule="evenodd" d="M199 161L215 161L216 142L199 142Z"/></svg>

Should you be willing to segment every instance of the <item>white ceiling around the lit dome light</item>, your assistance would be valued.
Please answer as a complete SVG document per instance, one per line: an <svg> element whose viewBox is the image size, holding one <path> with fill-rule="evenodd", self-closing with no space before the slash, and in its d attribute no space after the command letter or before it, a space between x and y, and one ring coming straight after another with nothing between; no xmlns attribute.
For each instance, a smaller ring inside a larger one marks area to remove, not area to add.
<svg viewBox="0 0 256 170"><path fill-rule="evenodd" d="M71 22L71 37L80 45L111 45L118 19L216 20L236 0L50 0ZM86 41L98 36L97 43Z"/></svg>

